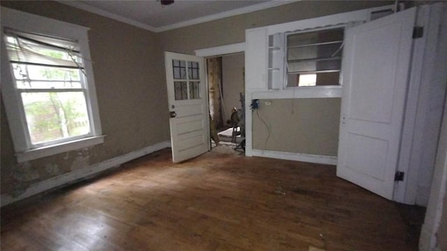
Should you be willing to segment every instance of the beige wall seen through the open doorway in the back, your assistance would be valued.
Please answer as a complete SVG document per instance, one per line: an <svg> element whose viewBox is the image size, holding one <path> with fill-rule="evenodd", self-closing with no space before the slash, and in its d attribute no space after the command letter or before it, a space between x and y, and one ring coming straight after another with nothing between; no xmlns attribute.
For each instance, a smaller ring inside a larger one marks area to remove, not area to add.
<svg viewBox="0 0 447 251"><path fill-rule="evenodd" d="M222 93L225 101L223 122L225 123L230 119L231 109L241 108L239 94L244 93L244 57L244 54L222 57Z"/></svg>

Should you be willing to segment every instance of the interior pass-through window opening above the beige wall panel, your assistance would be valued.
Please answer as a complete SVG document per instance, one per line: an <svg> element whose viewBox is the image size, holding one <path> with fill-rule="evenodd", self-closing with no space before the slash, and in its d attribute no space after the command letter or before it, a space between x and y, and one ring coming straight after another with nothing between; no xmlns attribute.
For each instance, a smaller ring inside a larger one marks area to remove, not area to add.
<svg viewBox="0 0 447 251"><path fill-rule="evenodd" d="M344 27L286 35L287 87L339 85Z"/></svg>

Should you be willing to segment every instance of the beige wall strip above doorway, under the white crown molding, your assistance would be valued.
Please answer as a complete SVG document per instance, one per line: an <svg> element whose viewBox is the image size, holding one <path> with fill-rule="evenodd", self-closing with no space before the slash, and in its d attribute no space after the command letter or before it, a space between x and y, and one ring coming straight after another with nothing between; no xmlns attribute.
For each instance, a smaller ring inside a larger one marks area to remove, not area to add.
<svg viewBox="0 0 447 251"><path fill-rule="evenodd" d="M245 41L245 30L321 17L394 1L296 1L275 8L235 15L159 33L163 50L193 54L194 50Z"/></svg>

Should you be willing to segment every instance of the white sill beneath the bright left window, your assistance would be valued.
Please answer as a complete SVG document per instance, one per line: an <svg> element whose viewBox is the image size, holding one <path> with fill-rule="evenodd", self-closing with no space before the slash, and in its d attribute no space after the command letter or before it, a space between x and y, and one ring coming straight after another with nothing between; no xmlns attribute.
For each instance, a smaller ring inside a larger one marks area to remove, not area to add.
<svg viewBox="0 0 447 251"><path fill-rule="evenodd" d="M105 137L104 135L93 136L89 138L78 139L76 141L60 143L57 145L45 146L43 148L36 148L24 152L17 152L16 154L17 162L19 163L28 162L33 159L39 159L51 155L57 155L62 152L78 150L81 148L88 148L93 145L104 143L104 137Z"/></svg>

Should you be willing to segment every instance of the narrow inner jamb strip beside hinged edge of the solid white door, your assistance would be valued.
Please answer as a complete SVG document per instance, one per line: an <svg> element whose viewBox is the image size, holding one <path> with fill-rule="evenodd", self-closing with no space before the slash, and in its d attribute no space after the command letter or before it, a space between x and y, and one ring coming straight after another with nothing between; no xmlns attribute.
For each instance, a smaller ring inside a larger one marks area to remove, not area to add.
<svg viewBox="0 0 447 251"><path fill-rule="evenodd" d="M400 158L397 164L397 170L404 172L406 177L402 182L396 182L393 196L394 201L409 205L416 203L416 194L418 193L418 170L413 167L421 164L426 117L426 111L421 109L421 106L425 106L424 104L427 103L428 92L430 91L430 88L425 87L425 92L423 92L422 77L424 71L428 72L427 76L432 75L433 55L430 54L436 53L434 50L425 51L427 39L429 34L432 33L432 29L428 26L430 7L421 6L421 8L418 8L417 15L416 24L421 27L425 26L425 36L413 42L413 57L411 59L404 126L402 128ZM418 110L423 110L423 112L418 113Z"/></svg>

